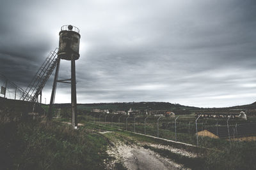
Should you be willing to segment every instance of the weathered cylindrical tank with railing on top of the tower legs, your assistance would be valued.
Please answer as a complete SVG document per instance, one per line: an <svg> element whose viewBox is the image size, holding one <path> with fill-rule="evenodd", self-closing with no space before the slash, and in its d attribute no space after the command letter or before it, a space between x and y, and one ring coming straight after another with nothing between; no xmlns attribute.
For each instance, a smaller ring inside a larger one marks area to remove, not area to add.
<svg viewBox="0 0 256 170"><path fill-rule="evenodd" d="M72 25L63 25L60 31L58 56L60 59L71 60L72 57L79 59L79 29Z"/></svg>

